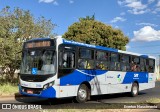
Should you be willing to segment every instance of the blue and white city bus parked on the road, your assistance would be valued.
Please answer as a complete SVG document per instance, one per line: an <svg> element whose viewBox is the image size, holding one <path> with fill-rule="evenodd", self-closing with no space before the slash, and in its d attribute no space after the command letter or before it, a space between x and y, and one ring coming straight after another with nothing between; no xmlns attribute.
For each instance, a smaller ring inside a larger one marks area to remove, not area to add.
<svg viewBox="0 0 160 112"><path fill-rule="evenodd" d="M154 88L155 58L63 38L35 38L24 42L19 76L22 95L43 98L73 97Z"/></svg>

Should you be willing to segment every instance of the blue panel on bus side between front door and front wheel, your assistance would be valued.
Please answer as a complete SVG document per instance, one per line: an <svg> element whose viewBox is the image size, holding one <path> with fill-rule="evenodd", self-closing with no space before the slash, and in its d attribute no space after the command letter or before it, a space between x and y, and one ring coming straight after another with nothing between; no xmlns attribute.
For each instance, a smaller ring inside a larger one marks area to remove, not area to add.
<svg viewBox="0 0 160 112"><path fill-rule="evenodd" d="M60 78L60 86L79 85L91 81L95 76L106 73L106 70L74 70L71 74Z"/></svg>

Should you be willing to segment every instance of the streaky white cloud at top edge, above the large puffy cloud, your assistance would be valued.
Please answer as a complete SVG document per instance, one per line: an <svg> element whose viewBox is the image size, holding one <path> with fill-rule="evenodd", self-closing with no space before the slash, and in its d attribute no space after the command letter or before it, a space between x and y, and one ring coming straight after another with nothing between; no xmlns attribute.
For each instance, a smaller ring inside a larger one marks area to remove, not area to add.
<svg viewBox="0 0 160 112"><path fill-rule="evenodd" d="M147 4L142 4L140 0L118 0L118 4L128 7L128 12L136 15L150 11L147 9Z"/></svg>

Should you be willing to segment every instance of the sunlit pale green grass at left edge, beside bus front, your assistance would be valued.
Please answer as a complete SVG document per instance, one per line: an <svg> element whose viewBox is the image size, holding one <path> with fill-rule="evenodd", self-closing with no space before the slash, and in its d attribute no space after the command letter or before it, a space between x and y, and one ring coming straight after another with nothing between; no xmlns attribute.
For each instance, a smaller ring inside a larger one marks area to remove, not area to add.
<svg viewBox="0 0 160 112"><path fill-rule="evenodd" d="M18 92L18 86L16 84L1 83L0 84L0 96L13 95Z"/></svg>

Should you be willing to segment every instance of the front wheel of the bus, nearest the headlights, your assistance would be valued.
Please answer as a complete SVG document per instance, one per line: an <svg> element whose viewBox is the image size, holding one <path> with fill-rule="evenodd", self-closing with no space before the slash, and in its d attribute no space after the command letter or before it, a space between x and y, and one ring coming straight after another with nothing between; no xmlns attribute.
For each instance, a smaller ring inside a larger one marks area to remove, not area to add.
<svg viewBox="0 0 160 112"><path fill-rule="evenodd" d="M85 84L81 84L79 86L78 92L77 92L77 96L76 96L76 101L78 103L84 103L87 101L88 97L89 97L89 92L88 92L88 87Z"/></svg>

